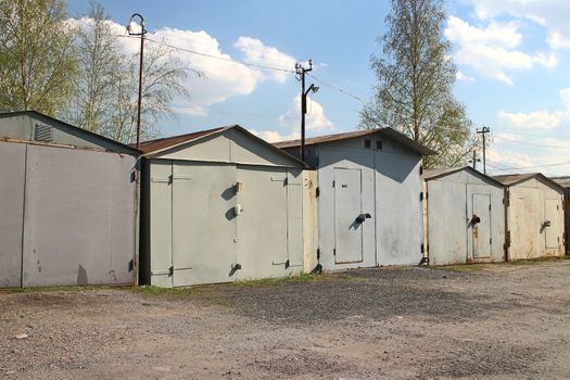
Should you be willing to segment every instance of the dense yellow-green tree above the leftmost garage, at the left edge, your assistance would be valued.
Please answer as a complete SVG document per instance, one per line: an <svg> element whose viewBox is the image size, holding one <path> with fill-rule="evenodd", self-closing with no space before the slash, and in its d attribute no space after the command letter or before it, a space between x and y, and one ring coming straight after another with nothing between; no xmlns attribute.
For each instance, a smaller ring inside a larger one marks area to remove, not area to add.
<svg viewBox="0 0 570 380"><path fill-rule="evenodd" d="M0 111L65 110L77 75L63 0L0 0Z"/></svg>

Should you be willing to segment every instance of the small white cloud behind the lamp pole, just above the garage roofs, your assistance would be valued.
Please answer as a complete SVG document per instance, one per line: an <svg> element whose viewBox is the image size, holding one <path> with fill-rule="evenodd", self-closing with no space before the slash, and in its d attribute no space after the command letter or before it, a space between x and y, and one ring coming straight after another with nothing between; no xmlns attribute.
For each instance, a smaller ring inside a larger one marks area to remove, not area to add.
<svg viewBox="0 0 570 380"><path fill-rule="evenodd" d="M290 129L299 129L301 119L301 94L293 98L289 110L279 116L279 125ZM332 122L325 115L325 110L315 100L307 98L307 115L305 116L305 128L307 130L333 129Z"/></svg>

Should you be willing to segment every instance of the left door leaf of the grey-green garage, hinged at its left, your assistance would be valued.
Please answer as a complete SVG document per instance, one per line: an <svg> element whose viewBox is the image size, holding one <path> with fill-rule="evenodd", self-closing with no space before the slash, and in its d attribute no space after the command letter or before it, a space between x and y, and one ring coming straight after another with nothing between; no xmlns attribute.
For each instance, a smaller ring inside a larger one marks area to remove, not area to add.
<svg viewBox="0 0 570 380"><path fill-rule="evenodd" d="M174 164L174 287L236 278L235 206L235 165Z"/></svg>

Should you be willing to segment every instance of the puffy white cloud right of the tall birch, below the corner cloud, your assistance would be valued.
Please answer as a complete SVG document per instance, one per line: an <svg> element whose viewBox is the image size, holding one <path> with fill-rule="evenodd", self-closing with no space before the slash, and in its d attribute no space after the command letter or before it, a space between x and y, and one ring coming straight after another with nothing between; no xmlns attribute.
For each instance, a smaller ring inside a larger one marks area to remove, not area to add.
<svg viewBox="0 0 570 380"><path fill-rule="evenodd" d="M536 64L554 67L557 59L554 53L527 54L515 50L522 40L516 22L496 23L487 26L472 26L461 18L451 16L445 36L458 46L454 59L458 64L472 66L481 75L512 85L507 74L511 69L531 69Z"/></svg>

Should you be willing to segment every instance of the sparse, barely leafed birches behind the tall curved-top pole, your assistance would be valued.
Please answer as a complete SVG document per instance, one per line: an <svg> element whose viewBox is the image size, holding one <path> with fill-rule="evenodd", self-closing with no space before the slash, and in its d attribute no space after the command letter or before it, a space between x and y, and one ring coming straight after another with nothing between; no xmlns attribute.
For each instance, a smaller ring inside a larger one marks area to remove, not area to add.
<svg viewBox="0 0 570 380"><path fill-rule="evenodd" d="M139 51L131 53L126 49L126 43L132 41L121 37L124 31L98 2L91 2L88 14L75 24L81 75L75 84L73 106L65 118L117 141L132 142L137 125ZM185 87L189 72L173 49L147 41L141 140L156 137L161 121L177 118L174 103L189 99Z"/></svg>

